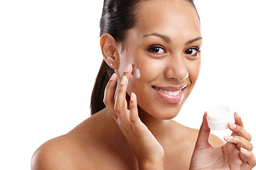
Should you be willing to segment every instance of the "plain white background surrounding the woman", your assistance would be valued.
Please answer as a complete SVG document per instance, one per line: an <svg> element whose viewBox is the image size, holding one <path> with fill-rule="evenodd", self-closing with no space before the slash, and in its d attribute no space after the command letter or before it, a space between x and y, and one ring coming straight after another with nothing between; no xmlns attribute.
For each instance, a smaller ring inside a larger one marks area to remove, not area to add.
<svg viewBox="0 0 256 170"><path fill-rule="evenodd" d="M256 1L196 0L196 6L201 74L176 120L200 128L208 106L226 103L256 138ZM30 169L43 142L90 116L102 62L101 12L102 0L0 1L0 169Z"/></svg>

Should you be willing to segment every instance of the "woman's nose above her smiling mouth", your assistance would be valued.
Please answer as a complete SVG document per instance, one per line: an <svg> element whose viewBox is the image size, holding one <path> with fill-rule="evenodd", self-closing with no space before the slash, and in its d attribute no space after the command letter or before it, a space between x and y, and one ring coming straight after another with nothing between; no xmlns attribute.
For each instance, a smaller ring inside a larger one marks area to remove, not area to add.
<svg viewBox="0 0 256 170"><path fill-rule="evenodd" d="M166 64L166 78L176 79L176 81L183 81L188 78L188 69L183 57L169 57Z"/></svg>

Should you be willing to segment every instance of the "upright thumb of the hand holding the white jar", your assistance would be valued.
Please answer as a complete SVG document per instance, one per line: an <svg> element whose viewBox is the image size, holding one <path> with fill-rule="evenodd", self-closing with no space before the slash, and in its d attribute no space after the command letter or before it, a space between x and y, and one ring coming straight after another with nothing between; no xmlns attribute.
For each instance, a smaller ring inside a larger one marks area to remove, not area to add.
<svg viewBox="0 0 256 170"><path fill-rule="evenodd" d="M206 147L210 147L209 144L209 136L210 136L210 128L208 128L208 123L206 120L207 113L203 115L203 123L198 133L198 140L196 141L195 149L205 149Z"/></svg>

